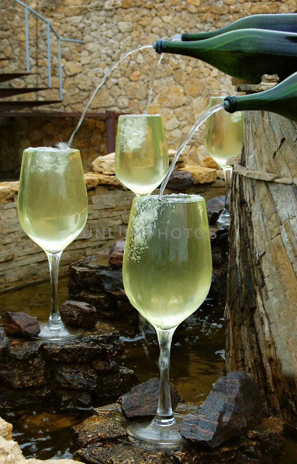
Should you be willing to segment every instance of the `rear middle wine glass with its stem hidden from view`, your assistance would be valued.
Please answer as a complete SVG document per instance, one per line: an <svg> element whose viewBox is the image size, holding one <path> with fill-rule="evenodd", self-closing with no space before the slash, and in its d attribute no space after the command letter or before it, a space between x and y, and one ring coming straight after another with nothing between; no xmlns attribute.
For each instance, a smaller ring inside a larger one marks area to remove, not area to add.
<svg viewBox="0 0 297 464"><path fill-rule="evenodd" d="M124 187L148 195L168 170L168 150L160 115L119 116L115 168Z"/></svg>

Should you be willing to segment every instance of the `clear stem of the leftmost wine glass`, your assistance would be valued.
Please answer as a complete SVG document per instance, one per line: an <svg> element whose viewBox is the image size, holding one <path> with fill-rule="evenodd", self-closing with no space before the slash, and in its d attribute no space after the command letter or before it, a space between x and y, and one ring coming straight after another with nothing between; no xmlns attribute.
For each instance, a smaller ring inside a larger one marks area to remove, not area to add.
<svg viewBox="0 0 297 464"><path fill-rule="evenodd" d="M52 307L51 315L47 327L49 329L62 329L64 324L61 320L60 311L59 311L59 301L58 301L58 269L59 261L62 251L59 253L50 253L46 252L49 266L50 266L50 275L51 275L51 286L52 286Z"/></svg>

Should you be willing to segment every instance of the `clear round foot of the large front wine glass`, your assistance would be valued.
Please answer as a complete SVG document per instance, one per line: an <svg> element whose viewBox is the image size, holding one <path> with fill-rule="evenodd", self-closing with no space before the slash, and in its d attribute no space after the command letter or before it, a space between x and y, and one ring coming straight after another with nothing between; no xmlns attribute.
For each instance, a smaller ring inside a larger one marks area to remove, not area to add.
<svg viewBox="0 0 297 464"><path fill-rule="evenodd" d="M180 448L186 443L186 440L178 432L177 423L160 426L154 424L153 421L137 420L128 425L127 433L135 445L146 449Z"/></svg>

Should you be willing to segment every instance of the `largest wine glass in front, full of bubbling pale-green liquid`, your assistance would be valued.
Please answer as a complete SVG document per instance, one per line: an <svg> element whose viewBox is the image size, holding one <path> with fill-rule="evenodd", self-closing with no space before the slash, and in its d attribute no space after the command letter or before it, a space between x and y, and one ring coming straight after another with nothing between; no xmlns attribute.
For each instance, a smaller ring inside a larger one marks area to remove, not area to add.
<svg viewBox="0 0 297 464"><path fill-rule="evenodd" d="M133 422L128 433L149 444L183 439L171 406L172 335L205 300L211 285L211 244L205 200L199 195L135 197L127 230L123 282L130 303L156 329L160 395L151 423Z"/></svg>

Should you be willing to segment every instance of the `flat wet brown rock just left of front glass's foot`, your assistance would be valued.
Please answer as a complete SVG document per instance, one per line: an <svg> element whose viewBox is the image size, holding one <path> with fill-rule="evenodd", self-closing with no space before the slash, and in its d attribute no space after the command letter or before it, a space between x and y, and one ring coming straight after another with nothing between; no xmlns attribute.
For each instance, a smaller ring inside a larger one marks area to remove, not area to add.
<svg viewBox="0 0 297 464"><path fill-rule="evenodd" d="M81 424L73 426L71 432L74 443L79 447L127 436L124 427L101 415L88 417Z"/></svg>

